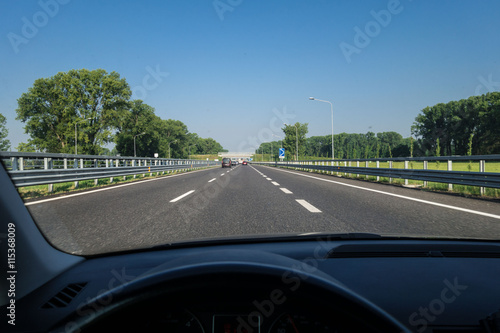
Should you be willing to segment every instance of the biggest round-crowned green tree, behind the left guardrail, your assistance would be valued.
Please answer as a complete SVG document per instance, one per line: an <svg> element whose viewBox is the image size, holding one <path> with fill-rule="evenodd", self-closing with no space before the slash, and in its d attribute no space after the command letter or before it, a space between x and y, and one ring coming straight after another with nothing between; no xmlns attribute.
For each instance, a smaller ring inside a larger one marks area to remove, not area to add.
<svg viewBox="0 0 500 333"><path fill-rule="evenodd" d="M38 79L18 99L17 119L32 143L52 153L71 153L75 127L79 153L98 154L113 139L129 108L130 88L116 72L70 70Z"/></svg>

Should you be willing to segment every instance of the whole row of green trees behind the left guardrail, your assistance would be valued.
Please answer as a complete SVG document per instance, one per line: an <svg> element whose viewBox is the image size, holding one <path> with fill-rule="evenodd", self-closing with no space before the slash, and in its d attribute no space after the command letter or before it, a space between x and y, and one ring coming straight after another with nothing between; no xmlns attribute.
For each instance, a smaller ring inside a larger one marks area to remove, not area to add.
<svg viewBox="0 0 500 333"><path fill-rule="evenodd" d="M180 120L161 119L116 72L70 70L41 78L18 99L17 118L30 135L18 151L187 158L224 151L190 133ZM113 151L105 146L115 144Z"/></svg>

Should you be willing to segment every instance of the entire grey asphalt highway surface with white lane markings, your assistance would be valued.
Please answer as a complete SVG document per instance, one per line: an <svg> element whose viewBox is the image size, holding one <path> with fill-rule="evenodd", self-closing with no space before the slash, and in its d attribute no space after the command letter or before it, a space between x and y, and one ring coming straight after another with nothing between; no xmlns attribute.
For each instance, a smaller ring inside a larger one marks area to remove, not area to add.
<svg viewBox="0 0 500 333"><path fill-rule="evenodd" d="M77 254L255 234L500 238L498 203L253 165L162 177L27 207L49 241Z"/></svg>

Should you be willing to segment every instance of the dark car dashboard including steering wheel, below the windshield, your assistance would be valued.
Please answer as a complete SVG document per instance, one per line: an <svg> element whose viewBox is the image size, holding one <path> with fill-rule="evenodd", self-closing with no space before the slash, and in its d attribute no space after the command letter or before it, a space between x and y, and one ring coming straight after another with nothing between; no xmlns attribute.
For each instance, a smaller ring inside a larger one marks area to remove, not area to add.
<svg viewBox="0 0 500 333"><path fill-rule="evenodd" d="M15 331L488 332L499 276L486 241L173 245L86 258L18 301Z"/></svg>

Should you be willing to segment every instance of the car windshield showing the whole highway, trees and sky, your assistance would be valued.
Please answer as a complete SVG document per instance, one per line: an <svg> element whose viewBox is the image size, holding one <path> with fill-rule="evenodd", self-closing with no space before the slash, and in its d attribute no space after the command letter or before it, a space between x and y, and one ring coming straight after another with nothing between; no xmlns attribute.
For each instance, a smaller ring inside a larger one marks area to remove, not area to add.
<svg viewBox="0 0 500 333"><path fill-rule="evenodd" d="M77 255L338 233L498 240L499 12L7 1L2 164L45 238Z"/></svg>

